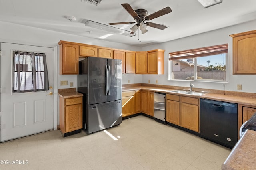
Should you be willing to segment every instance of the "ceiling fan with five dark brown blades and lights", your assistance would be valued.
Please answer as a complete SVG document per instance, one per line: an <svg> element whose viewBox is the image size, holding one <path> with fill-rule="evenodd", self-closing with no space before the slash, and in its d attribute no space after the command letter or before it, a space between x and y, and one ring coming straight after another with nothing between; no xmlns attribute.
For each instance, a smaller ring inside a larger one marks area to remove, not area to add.
<svg viewBox="0 0 256 170"><path fill-rule="evenodd" d="M148 11L145 9L133 10L132 7L130 6L130 4L121 4L121 5L124 7L124 9L126 9L127 12L129 12L129 14L131 14L131 16L134 18L135 22L114 22L114 23L109 23L109 25L136 23L134 26L132 26L132 28L130 28L132 30L132 32L130 34L134 34L138 30L138 28L140 28L141 33L144 34L148 31L146 29L147 26L150 26L153 28L158 28L160 30L164 30L165 28L167 28L167 26L161 25L161 24L156 24L153 22L145 23L145 21L149 21L149 20L152 20L159 16L163 16L165 14L172 12L170 7L166 7L166 8L163 8L162 10L159 10L157 12L154 12L153 14L148 15Z"/></svg>

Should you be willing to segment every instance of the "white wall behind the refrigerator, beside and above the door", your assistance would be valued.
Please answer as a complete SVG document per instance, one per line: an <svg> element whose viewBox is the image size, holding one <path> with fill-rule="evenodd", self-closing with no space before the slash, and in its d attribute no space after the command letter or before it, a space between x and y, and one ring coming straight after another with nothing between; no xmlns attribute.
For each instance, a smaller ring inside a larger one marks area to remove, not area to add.
<svg viewBox="0 0 256 170"><path fill-rule="evenodd" d="M73 82L74 86L77 87L77 75L60 75L59 72L59 45L60 40L69 42L78 42L85 44L98 45L102 47L112 47L117 49L126 49L132 51L140 51L140 47L135 47L131 45L126 45L122 43L107 42L104 40L87 38L82 36L74 36L71 34L65 34L60 32L54 32L49 30L43 30L39 28L32 28L28 26L22 26L18 24L11 24L7 22L0 22L0 41L10 42L10 43L21 43L28 45L38 45L46 47L57 47L57 63L54 65L57 67L57 87L55 89L71 88L70 82ZM2 63L3 64L3 63ZM1 73L1 75L4 73ZM60 86L61 80L68 80L67 86ZM124 82L130 80L130 83L141 83L141 75L124 75ZM57 109L59 108L59 98L57 97ZM59 111L57 111L57 125L59 125Z"/></svg>

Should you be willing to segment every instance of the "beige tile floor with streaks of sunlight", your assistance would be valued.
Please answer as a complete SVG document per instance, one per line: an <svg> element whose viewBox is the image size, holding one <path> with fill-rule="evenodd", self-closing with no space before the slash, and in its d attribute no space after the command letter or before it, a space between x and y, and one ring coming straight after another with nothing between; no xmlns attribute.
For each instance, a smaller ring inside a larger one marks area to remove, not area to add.
<svg viewBox="0 0 256 170"><path fill-rule="evenodd" d="M220 170L231 151L142 115L107 131L118 140L52 130L1 143L0 170Z"/></svg>

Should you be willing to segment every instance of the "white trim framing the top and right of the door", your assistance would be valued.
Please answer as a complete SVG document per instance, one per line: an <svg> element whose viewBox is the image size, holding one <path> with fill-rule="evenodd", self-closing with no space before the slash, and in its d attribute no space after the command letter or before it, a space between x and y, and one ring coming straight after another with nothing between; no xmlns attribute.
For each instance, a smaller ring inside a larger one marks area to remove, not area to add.
<svg viewBox="0 0 256 170"><path fill-rule="evenodd" d="M53 118L53 129L57 130L57 97L58 97L58 87L57 87L57 73L58 73L58 46L57 45L47 45L47 44L38 44L38 43L32 43L32 42L21 42L16 40L6 40L6 39L0 39L0 51L1 51L1 43L12 43L12 44L18 44L18 45L30 45L30 46L36 46L36 47L46 47L46 48L53 48L54 50L54 73L53 73L53 80L54 80L54 103L53 103L53 112L54 112L54 118ZM1 64L1 55L0 55L0 64ZM1 65L0 65L1 67ZM0 75L1 76L1 75ZM1 89L1 81L0 81L0 89ZM0 97L1 97L1 91L0 91ZM0 100L0 141L1 141L1 100Z"/></svg>

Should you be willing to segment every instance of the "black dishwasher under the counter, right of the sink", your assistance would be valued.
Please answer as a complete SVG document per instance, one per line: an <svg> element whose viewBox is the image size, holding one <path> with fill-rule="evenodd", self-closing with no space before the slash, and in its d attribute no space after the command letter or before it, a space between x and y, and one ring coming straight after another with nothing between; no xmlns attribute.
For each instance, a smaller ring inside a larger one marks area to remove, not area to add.
<svg viewBox="0 0 256 170"><path fill-rule="evenodd" d="M233 148L238 140L237 104L200 99L200 135Z"/></svg>

